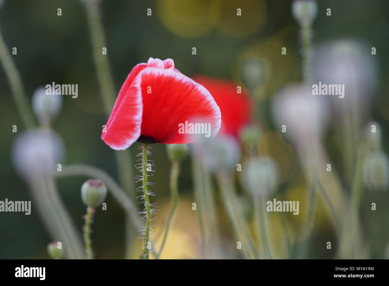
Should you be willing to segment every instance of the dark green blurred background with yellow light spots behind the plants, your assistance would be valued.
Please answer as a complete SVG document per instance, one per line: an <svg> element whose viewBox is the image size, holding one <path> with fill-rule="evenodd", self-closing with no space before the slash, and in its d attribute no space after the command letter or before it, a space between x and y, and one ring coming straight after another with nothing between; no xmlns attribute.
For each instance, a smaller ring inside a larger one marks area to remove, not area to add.
<svg viewBox="0 0 389 286"><path fill-rule="evenodd" d="M1 2L1 1L0 1ZM270 140L270 154L281 169L281 185L278 197L300 198L299 218L289 217L291 232L300 232L304 215L307 184L294 148L285 141L274 126L269 102L284 85L301 80L299 26L291 15L291 1L265 0L156 0L124 1L103 0L101 11L107 42L107 56L118 92L131 68L149 57L172 58L175 67L191 77L198 74L229 79L250 91L259 102L261 111L256 116L266 126ZM330 40L357 39L377 48L374 57L377 87L371 94L369 119L377 121L383 134L383 149L389 147L389 2L386 0L319 0L319 14L313 25L313 43L319 46ZM62 16L57 16L57 9ZM147 9L152 16L147 16ZM236 9L242 9L242 17ZM331 8L332 15L325 10ZM101 126L106 122L100 90L93 62L91 40L85 9L79 0L5 0L0 9L0 28L8 48L17 47L15 61L29 100L34 90L51 82L78 84L78 98L64 96L63 108L53 123L54 130L66 146L65 163L90 164L117 179L114 152L100 140ZM193 55L192 47L197 54ZM287 54L281 55L281 47ZM263 65L256 75L254 86L247 86L247 71L243 63L248 58ZM23 130L11 90L3 68L0 68L0 200L32 200L28 186L12 167L11 146ZM258 110L258 109L257 109ZM336 126L337 122L331 123ZM12 125L18 133L12 133ZM19 131L20 130L20 131ZM336 168L342 174L340 139L329 128L325 137L326 150ZM137 144L131 146L131 158L135 161ZM152 177L156 183L156 197L160 211L155 224L166 220L169 210L168 178L170 162L165 146L154 144L152 159L156 170ZM80 187L87 177L61 177L58 186L61 196L81 231L85 207L80 198ZM195 211L191 179L191 164L187 159L179 178L179 212L171 230L162 258L200 258L200 230ZM387 191L387 190L386 190ZM244 190L239 188L242 208L247 220L252 220L252 205ZM389 241L388 192L368 192L361 198L359 218L368 249L366 258L384 258ZM108 211L97 211L93 224L93 248L96 258L123 258L124 212L115 200L107 197ZM219 197L216 198L220 220L223 249L226 257L240 257L234 250L231 228ZM371 202L377 203L377 211L371 211ZM48 258L47 243L51 241L37 212L0 213L0 258ZM318 227L308 251L309 258L333 258L336 239L328 214L318 214ZM272 217L274 228L271 240L276 248L282 248L280 221ZM158 232L158 227L155 228ZM323 245L334 241L333 249ZM278 244L279 243L279 244ZM289 258L298 258L296 253ZM282 251L280 251L282 253ZM386 254L387 255L387 254ZM287 258L282 254L279 258Z"/></svg>

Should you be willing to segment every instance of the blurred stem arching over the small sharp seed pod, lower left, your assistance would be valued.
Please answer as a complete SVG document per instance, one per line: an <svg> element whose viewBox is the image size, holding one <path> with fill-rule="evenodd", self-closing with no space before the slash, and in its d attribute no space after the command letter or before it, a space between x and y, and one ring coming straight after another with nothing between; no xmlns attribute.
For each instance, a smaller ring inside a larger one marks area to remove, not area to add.
<svg viewBox="0 0 389 286"><path fill-rule="evenodd" d="M72 176L83 175L102 180L108 187L109 192L114 196L116 201L123 207L124 211L130 216L132 222L137 227L141 226L142 221L138 216L138 210L130 198L124 193L123 189L115 182L115 180L105 171L83 164L62 166L62 171L54 171L56 176Z"/></svg>

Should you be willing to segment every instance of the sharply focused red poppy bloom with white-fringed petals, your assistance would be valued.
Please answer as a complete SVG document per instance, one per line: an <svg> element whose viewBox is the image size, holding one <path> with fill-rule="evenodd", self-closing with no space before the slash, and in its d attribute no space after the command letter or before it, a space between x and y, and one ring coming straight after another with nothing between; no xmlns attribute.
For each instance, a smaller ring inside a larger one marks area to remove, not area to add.
<svg viewBox="0 0 389 286"><path fill-rule="evenodd" d="M173 60L149 58L128 75L101 139L115 150L135 141L190 143L194 137L179 132L179 125L200 118L207 118L214 137L221 114L209 91L175 69Z"/></svg>

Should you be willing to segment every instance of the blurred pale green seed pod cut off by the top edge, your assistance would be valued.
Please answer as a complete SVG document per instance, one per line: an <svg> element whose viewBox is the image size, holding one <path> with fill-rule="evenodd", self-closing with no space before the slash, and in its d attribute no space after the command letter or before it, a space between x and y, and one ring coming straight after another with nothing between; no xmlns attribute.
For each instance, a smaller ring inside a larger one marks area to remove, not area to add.
<svg viewBox="0 0 389 286"><path fill-rule="evenodd" d="M293 18L303 26L311 25L317 16L315 0L294 0L292 2Z"/></svg>

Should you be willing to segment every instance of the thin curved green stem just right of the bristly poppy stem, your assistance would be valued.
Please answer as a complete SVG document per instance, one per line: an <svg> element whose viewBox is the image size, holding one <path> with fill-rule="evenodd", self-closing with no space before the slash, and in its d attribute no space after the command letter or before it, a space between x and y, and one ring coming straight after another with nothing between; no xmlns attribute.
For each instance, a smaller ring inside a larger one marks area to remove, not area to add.
<svg viewBox="0 0 389 286"><path fill-rule="evenodd" d="M166 228L165 233L163 235L163 240L161 244L161 249L159 249L159 253L157 254L157 259L162 253L163 247L165 246L166 239L168 236L168 232L170 229L170 225L173 222L174 214L177 210L178 206L178 175L180 170L180 162L179 161L173 161L172 162L172 168L170 169L170 197L172 198L172 209L170 211L168 220L166 222Z"/></svg>

